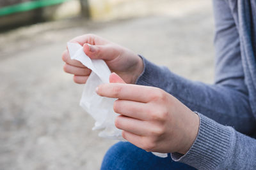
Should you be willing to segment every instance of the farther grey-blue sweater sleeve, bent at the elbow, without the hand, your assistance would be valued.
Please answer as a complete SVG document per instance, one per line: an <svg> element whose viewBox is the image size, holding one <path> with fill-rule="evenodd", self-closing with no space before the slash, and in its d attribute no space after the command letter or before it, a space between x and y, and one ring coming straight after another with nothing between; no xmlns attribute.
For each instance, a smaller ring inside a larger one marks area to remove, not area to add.
<svg viewBox="0 0 256 170"><path fill-rule="evenodd" d="M144 60L145 70L139 85L159 87L177 97L191 110L237 131L251 135L255 118L244 83L237 19L226 1L213 1L216 19L216 77L214 85L189 81Z"/></svg>

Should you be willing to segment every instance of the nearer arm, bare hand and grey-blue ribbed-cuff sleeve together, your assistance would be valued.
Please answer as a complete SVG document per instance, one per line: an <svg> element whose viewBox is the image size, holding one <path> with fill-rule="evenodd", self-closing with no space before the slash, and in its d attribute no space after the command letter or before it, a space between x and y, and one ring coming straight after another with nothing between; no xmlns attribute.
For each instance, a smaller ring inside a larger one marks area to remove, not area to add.
<svg viewBox="0 0 256 170"><path fill-rule="evenodd" d="M195 114L161 89L125 84L116 74L109 80L97 94L118 99L115 125L127 141L148 152L172 153L173 160L198 169L256 166L256 139Z"/></svg>

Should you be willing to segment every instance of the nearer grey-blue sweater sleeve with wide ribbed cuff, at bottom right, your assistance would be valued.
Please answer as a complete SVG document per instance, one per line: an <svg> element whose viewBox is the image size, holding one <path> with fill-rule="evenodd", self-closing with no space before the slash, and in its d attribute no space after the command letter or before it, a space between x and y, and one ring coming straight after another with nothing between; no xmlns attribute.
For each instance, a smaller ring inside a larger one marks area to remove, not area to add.
<svg viewBox="0 0 256 170"><path fill-rule="evenodd" d="M204 115L194 144L186 155L172 153L172 159L197 169L254 169L256 139L218 124Z"/></svg>

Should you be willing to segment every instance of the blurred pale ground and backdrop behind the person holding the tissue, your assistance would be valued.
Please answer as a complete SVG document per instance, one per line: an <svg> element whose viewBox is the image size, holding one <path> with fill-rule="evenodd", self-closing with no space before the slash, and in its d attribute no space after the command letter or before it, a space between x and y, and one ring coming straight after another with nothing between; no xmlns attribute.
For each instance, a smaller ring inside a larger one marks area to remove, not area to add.
<svg viewBox="0 0 256 170"><path fill-rule="evenodd" d="M63 72L75 36L98 34L181 76L213 80L211 1L1 0L0 31L0 169L99 169L116 142L92 131L79 107L83 85Z"/></svg>

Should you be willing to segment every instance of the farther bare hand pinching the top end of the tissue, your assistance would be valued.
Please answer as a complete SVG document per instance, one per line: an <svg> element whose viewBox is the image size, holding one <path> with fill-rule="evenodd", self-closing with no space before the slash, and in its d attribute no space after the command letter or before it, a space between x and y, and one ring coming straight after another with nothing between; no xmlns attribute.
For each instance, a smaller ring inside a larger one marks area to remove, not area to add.
<svg viewBox="0 0 256 170"><path fill-rule="evenodd" d="M91 59L103 59L112 72L118 73L127 83L135 83L143 71L142 59L131 50L116 45L106 39L93 34L86 34L72 39L70 42L83 46L84 53ZM62 55L65 72L74 74L76 83L86 83L91 70L84 67L81 62L71 60L68 50Z"/></svg>

